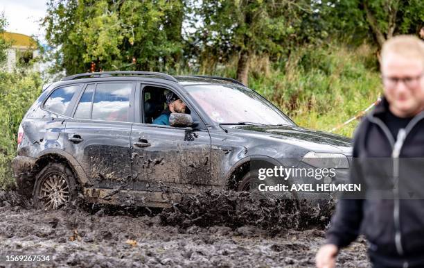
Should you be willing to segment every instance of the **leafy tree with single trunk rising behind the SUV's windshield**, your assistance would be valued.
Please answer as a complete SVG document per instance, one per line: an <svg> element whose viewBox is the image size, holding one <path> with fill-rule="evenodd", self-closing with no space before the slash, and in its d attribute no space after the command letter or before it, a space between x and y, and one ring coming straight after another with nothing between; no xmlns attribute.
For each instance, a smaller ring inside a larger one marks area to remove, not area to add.
<svg viewBox="0 0 424 268"><path fill-rule="evenodd" d="M254 54L279 56L294 44L306 42L313 16L310 1L204 0L191 2L197 20L192 40L204 55L225 62L238 56L237 78L247 84L249 58ZM200 26L197 26L200 25Z"/></svg>

